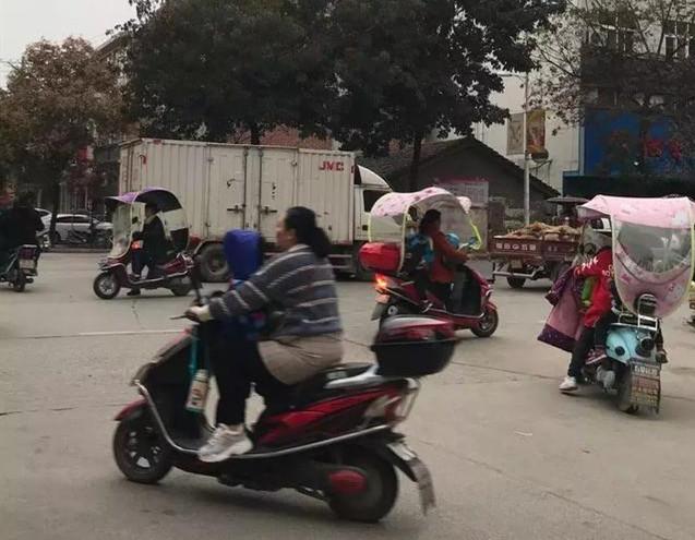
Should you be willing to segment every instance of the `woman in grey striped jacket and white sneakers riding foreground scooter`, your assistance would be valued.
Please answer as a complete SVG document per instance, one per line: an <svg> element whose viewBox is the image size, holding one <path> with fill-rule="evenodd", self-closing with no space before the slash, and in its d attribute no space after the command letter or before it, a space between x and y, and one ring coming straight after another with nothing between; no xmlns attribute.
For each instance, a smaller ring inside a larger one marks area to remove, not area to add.
<svg viewBox="0 0 695 540"><path fill-rule="evenodd" d="M331 242L304 207L287 211L277 225L276 245L283 253L271 259L248 280L187 312L200 322L225 321L271 304L285 316L272 339L235 339L211 352L219 389L217 428L200 449L199 458L217 463L249 452L253 444L244 429L245 400L251 385L271 403L283 403L291 386L340 362L341 323ZM233 352L233 353L230 353Z"/></svg>

